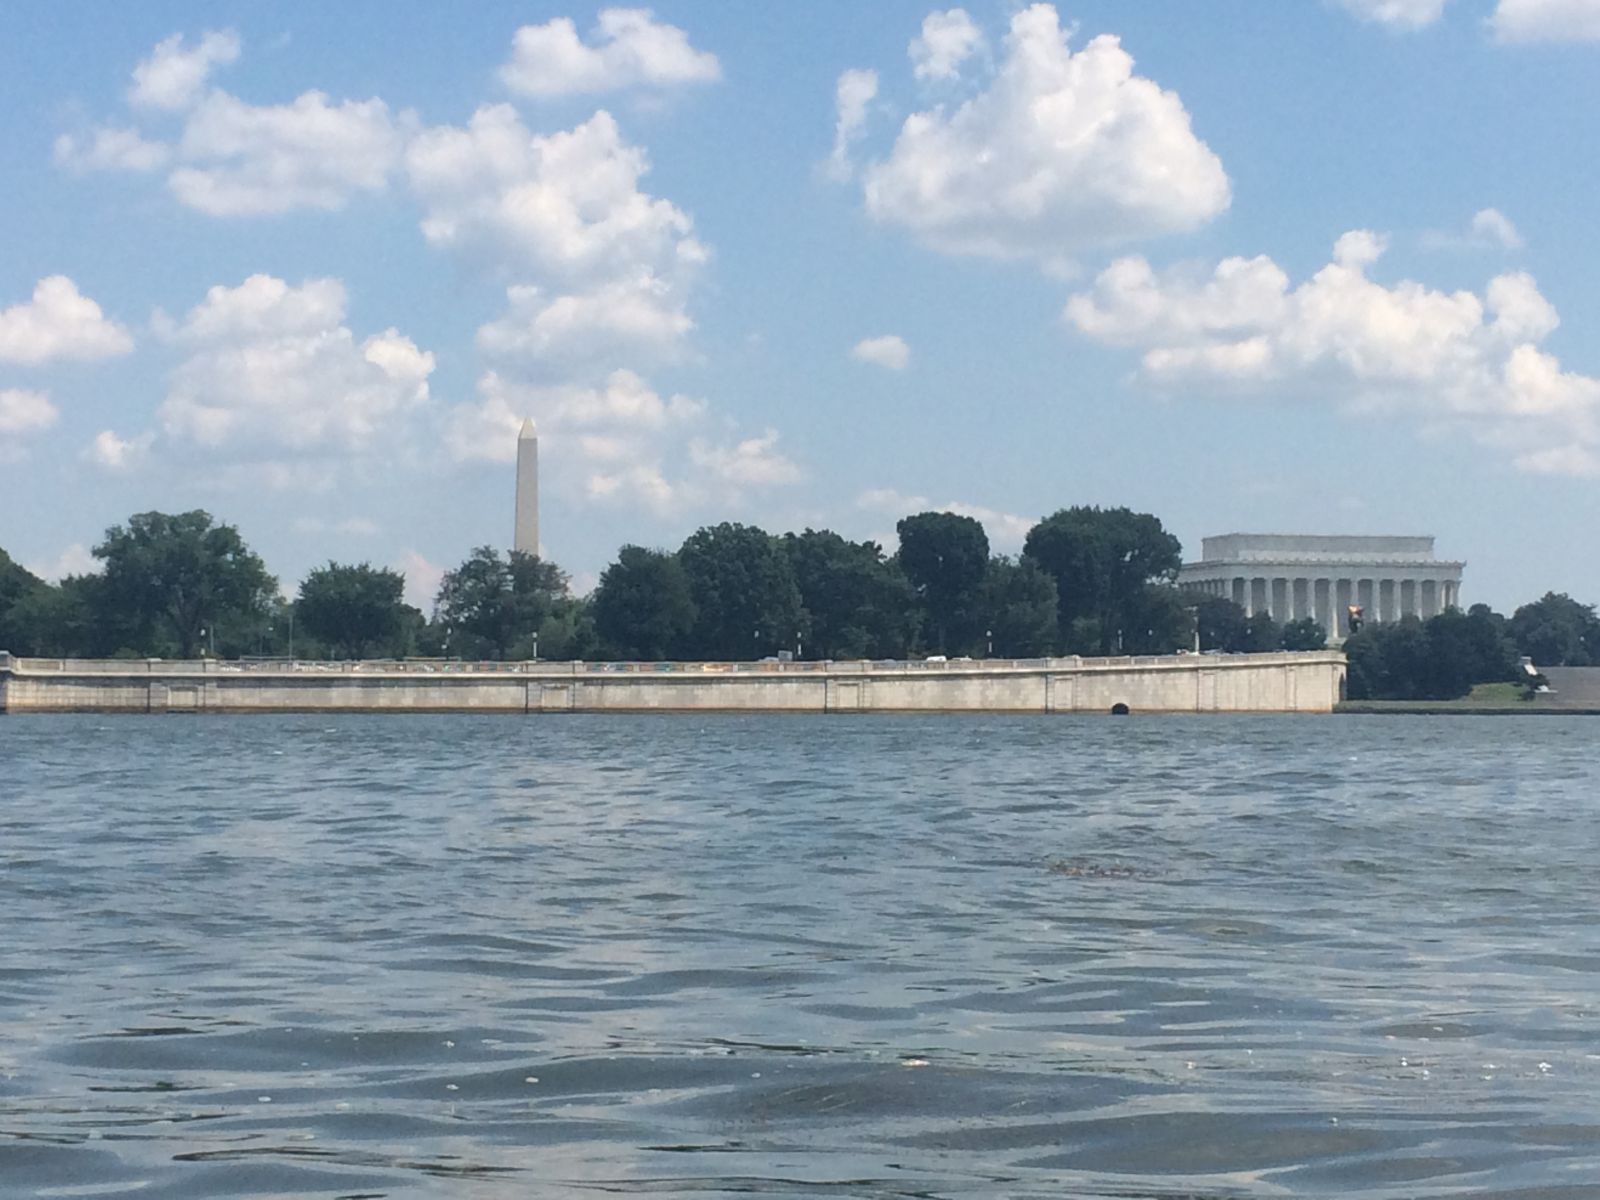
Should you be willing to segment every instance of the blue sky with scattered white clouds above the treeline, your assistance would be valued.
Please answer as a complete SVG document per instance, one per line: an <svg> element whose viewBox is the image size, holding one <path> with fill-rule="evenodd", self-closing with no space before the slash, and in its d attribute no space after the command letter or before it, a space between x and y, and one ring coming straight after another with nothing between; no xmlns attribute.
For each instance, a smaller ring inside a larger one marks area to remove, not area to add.
<svg viewBox="0 0 1600 1200"><path fill-rule="evenodd" d="M466 16L462 16L466 13ZM421 598L717 520L1434 533L1600 600L1600 0L0 14L0 546Z"/></svg>

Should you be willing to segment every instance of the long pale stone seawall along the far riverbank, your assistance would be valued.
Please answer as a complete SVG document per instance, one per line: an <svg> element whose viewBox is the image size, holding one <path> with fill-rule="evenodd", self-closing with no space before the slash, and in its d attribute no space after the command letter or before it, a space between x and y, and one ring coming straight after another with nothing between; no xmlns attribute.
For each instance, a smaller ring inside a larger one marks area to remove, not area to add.
<svg viewBox="0 0 1600 1200"><path fill-rule="evenodd" d="M1344 656L166 662L0 654L0 712L1333 712Z"/></svg>

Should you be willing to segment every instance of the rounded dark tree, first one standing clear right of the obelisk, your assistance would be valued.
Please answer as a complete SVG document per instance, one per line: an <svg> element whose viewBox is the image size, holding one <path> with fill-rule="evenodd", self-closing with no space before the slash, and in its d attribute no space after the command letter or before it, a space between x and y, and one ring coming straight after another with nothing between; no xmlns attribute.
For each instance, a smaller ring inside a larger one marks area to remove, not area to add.
<svg viewBox="0 0 1600 1200"><path fill-rule="evenodd" d="M694 629L690 581L675 555L624 546L590 597L603 653L624 659L682 658Z"/></svg>

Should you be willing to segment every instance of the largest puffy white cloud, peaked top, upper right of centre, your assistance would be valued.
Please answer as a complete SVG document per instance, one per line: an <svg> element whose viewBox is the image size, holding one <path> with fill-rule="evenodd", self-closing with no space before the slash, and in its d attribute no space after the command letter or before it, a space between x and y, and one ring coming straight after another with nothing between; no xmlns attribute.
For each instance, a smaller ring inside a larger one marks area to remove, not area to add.
<svg viewBox="0 0 1600 1200"><path fill-rule="evenodd" d="M1074 54L1046 3L1011 18L987 91L906 120L864 194L934 250L1045 262L1197 229L1230 198L1178 94L1134 75L1115 37Z"/></svg>

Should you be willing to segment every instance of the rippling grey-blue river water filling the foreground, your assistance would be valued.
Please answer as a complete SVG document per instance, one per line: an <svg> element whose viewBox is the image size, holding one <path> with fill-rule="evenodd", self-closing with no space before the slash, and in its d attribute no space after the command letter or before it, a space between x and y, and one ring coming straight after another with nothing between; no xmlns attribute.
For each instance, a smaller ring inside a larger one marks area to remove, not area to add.
<svg viewBox="0 0 1600 1200"><path fill-rule="evenodd" d="M1600 1195L1584 718L0 718L0 1195Z"/></svg>

